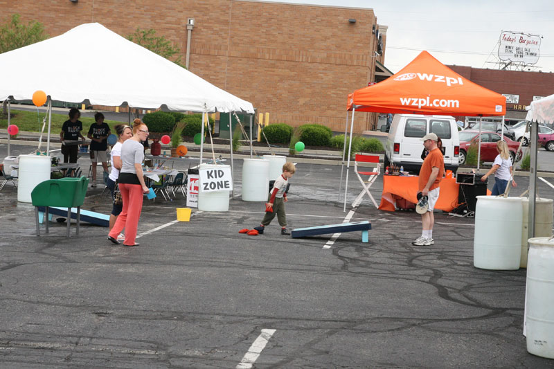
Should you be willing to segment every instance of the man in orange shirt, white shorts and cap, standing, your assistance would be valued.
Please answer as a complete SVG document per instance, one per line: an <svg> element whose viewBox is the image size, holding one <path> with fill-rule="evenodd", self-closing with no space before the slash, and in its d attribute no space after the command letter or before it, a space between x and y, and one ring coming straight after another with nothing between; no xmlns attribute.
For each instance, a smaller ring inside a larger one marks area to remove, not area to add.
<svg viewBox="0 0 554 369"><path fill-rule="evenodd" d="M438 185L443 180L445 174L445 159L443 158L443 153L437 147L438 137L436 134L426 134L421 141L423 141L423 145L429 154L427 154L421 165L418 191L421 192L424 203L425 197L427 197L428 207L422 214L419 209L416 209L421 214L423 231L421 237L413 241L412 244L415 246L429 246L435 243L433 240L433 225L435 223L433 209L438 200L438 192L440 190ZM420 204L418 204L418 208L420 208Z"/></svg>

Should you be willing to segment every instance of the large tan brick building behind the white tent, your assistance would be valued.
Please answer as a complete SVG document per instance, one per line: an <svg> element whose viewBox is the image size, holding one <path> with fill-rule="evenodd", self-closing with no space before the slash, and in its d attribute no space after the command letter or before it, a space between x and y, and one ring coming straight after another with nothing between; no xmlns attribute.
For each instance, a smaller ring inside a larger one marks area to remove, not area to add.
<svg viewBox="0 0 554 369"><path fill-rule="evenodd" d="M0 0L0 8L41 22L51 37L90 22L123 36L153 28L181 49L182 60L193 18L190 71L269 112L271 123L321 123L340 132L348 93L376 74L377 81L391 75L383 65L386 26L379 27L372 9L250 0L61 0L48 6ZM379 35L382 55L376 53ZM109 58L82 50L68 45L68 57ZM355 132L362 132L375 127L377 117L355 119Z"/></svg>

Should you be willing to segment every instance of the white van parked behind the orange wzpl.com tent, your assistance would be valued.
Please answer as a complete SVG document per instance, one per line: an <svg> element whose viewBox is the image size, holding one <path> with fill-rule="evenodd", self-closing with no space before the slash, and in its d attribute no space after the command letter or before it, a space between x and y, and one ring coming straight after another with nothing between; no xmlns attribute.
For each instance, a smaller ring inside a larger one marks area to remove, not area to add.
<svg viewBox="0 0 554 369"><path fill-rule="evenodd" d="M452 116L426 116L419 114L395 114L388 131L384 166L392 164L417 174L423 163L421 138L434 133L443 141L445 169L456 173L460 156L458 125Z"/></svg>

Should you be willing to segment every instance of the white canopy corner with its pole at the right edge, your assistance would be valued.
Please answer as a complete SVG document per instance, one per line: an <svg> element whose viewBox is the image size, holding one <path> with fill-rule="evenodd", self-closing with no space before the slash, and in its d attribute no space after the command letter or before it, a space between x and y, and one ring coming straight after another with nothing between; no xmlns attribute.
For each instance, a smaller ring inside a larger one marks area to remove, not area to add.
<svg viewBox="0 0 554 369"><path fill-rule="evenodd" d="M529 168L529 238L535 237L535 197L537 189L537 152L539 123L554 123L554 95L546 96L540 100L531 102L527 107L525 120L531 122L529 137L530 168Z"/></svg>

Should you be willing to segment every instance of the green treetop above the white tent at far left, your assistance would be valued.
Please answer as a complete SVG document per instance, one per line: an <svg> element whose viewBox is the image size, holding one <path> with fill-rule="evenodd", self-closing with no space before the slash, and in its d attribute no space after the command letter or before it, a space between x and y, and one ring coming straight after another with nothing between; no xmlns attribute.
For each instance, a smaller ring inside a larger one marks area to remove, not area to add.
<svg viewBox="0 0 554 369"><path fill-rule="evenodd" d="M44 26L37 21L22 24L19 14L6 18L6 23L0 27L0 54L23 46L47 39Z"/></svg>

